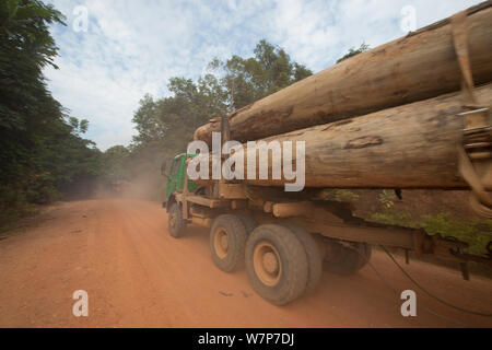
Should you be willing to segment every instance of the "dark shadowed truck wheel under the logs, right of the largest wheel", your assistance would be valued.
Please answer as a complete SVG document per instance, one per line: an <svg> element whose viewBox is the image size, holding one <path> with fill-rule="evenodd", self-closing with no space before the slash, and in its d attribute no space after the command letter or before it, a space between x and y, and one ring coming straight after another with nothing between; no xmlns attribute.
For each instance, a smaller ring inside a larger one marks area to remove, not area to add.
<svg viewBox="0 0 492 350"><path fill-rule="evenodd" d="M372 247L366 243L352 243L345 247L338 242L330 242L329 253L323 262L325 270L350 276L362 269L371 259Z"/></svg>

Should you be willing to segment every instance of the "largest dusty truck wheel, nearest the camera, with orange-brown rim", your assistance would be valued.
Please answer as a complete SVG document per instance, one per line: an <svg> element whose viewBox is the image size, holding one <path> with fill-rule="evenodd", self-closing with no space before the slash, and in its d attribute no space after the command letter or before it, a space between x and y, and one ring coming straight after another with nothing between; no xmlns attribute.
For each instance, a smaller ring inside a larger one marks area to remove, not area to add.
<svg viewBox="0 0 492 350"><path fill-rule="evenodd" d="M285 305L306 290L306 252L296 235L274 224L255 229L246 242L246 268L253 288L276 305Z"/></svg>

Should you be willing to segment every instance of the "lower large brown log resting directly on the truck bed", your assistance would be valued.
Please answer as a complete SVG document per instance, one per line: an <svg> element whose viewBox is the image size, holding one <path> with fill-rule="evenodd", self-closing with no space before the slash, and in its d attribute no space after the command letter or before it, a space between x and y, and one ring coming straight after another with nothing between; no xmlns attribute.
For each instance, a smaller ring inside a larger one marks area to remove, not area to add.
<svg viewBox="0 0 492 350"><path fill-rule="evenodd" d="M481 104L491 105L492 84L476 89L476 95ZM294 141L294 144L305 141L306 187L468 188L458 173L457 145L462 140L464 129L464 117L458 114L461 112L461 95L452 93L265 141ZM257 149L245 144L232 156L246 161L251 152L256 153L253 156L259 164ZM490 167L491 161L487 162L484 165ZM271 165L269 158L269 174ZM246 168L247 162L245 177ZM485 187L491 189L492 179L487 182ZM269 179L259 179L257 170L256 179L244 183L284 186L292 180L271 179L271 175Z"/></svg>

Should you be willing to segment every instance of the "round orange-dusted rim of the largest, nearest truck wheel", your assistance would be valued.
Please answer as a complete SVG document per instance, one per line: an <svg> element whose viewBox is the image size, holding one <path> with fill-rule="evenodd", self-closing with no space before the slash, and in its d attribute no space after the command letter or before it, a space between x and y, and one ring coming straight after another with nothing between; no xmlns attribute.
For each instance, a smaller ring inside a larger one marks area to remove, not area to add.
<svg viewBox="0 0 492 350"><path fill-rule="evenodd" d="M277 285L282 276L282 260L277 248L269 242L260 242L253 253L256 276L263 284Z"/></svg>

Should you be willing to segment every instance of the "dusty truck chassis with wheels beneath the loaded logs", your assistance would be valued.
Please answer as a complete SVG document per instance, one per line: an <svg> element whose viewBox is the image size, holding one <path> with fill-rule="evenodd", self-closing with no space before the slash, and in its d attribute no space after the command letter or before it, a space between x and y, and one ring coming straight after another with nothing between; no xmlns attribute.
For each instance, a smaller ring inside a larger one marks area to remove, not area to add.
<svg viewBox="0 0 492 350"><path fill-rule="evenodd" d="M256 196L251 196L251 190ZM353 217L347 203L316 199L268 200L265 188L218 180L213 186L183 191L163 203L169 213L172 236L184 234L188 223L210 229L214 264L231 272L244 264L249 280L263 299L288 304L316 288L323 269L352 275L364 267L372 246L401 248L418 256L434 255L459 264L468 279L467 261L490 259L466 255L462 242L423 230L366 222ZM273 196L276 197L276 196Z"/></svg>

